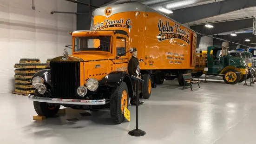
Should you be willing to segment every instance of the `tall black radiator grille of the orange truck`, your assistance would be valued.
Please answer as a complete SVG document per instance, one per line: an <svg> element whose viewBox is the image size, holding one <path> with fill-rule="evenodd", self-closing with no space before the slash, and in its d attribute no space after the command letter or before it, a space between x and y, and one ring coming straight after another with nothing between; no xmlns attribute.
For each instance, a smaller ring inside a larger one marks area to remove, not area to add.
<svg viewBox="0 0 256 144"><path fill-rule="evenodd" d="M76 98L80 86L79 62L51 62L53 98Z"/></svg>

